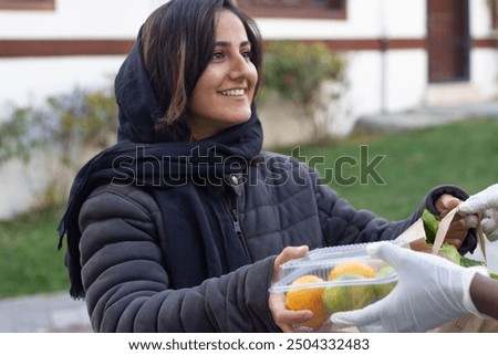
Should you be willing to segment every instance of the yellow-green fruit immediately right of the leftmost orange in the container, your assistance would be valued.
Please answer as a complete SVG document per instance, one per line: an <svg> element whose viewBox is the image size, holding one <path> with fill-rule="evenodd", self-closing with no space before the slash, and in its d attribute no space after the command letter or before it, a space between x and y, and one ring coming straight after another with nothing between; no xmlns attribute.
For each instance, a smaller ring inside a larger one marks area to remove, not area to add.
<svg viewBox="0 0 498 355"><path fill-rule="evenodd" d="M345 273L335 280L363 279L360 275ZM335 312L362 309L375 301L373 285L338 285L325 288L322 295L323 306L330 314Z"/></svg>

